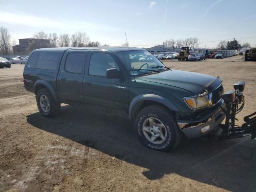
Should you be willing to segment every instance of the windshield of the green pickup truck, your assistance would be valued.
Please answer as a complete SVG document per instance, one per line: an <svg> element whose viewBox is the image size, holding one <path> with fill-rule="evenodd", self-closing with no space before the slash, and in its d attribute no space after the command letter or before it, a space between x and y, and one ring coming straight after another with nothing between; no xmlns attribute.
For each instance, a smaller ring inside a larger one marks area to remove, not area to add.
<svg viewBox="0 0 256 192"><path fill-rule="evenodd" d="M117 52L117 55L128 70L133 70L130 71L130 74L134 76L152 73L152 70L157 72L168 70L164 68L164 64L146 50ZM159 67L154 68L156 66Z"/></svg>

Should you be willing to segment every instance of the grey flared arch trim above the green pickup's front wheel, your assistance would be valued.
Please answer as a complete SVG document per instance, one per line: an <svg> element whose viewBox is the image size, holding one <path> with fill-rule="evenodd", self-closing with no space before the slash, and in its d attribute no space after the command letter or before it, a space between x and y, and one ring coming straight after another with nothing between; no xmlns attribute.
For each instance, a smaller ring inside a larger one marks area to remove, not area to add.
<svg viewBox="0 0 256 192"><path fill-rule="evenodd" d="M171 111L179 112L180 110L168 99L159 96L159 95L154 95L154 94L142 94L138 95L133 98L130 106L129 106L129 118L132 119L132 110L134 106L140 102L140 101L154 101L158 102L167 108L169 108Z"/></svg>

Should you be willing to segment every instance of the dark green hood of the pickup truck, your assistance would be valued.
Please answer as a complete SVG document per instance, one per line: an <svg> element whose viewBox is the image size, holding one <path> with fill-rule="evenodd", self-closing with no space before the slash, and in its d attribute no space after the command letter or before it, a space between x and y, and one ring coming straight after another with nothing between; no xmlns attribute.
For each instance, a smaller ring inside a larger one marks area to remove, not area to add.
<svg viewBox="0 0 256 192"><path fill-rule="evenodd" d="M182 88L195 95L201 94L206 89L212 92L222 82L220 78L180 70L167 70L158 74L140 76L138 79Z"/></svg>

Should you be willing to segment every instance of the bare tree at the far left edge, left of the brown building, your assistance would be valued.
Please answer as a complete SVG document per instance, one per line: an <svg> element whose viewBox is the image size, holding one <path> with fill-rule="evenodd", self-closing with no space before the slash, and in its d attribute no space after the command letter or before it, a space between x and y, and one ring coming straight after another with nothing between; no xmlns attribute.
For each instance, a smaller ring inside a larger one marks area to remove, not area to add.
<svg viewBox="0 0 256 192"><path fill-rule="evenodd" d="M10 52L10 40L11 34L9 30L3 26L0 27L0 52L3 54L8 54Z"/></svg>

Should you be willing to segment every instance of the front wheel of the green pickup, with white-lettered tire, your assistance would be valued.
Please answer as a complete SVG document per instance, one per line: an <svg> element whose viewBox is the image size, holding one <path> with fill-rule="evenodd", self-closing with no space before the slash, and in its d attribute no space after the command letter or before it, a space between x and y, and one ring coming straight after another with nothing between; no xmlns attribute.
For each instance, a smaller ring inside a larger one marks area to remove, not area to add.
<svg viewBox="0 0 256 192"><path fill-rule="evenodd" d="M150 149L168 151L180 143L181 131L175 117L163 106L152 105L142 109L134 124L140 142Z"/></svg>

